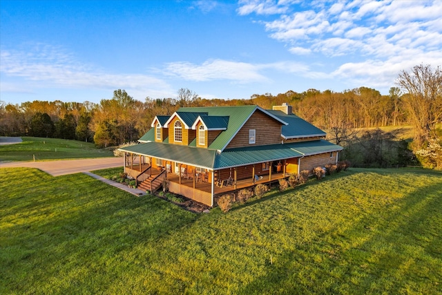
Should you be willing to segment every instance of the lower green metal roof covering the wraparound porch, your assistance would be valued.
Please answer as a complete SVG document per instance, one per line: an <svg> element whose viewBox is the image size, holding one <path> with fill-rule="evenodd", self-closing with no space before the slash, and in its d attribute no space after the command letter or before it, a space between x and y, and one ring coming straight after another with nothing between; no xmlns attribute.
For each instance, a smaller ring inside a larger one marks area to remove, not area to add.
<svg viewBox="0 0 442 295"><path fill-rule="evenodd" d="M342 147L327 142L326 140L314 140L312 142L225 149L221 153L210 149L177 144L164 144L162 142L147 142L145 144L127 146L120 150L216 170L247 164L284 160L287 158L298 158L302 155L328 153L342 149Z"/></svg>

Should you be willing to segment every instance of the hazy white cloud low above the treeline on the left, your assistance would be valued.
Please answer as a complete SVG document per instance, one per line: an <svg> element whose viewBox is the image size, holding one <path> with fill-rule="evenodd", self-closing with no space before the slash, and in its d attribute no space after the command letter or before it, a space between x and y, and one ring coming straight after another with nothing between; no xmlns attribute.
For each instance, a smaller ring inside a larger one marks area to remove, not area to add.
<svg viewBox="0 0 442 295"><path fill-rule="evenodd" d="M104 73L91 65L79 63L61 48L45 44L37 44L23 51L1 50L0 55L0 72L6 79L21 78L23 91L32 92L32 88L41 85L81 89L169 88L161 79L148 75ZM10 90L17 88L13 82L7 85ZM29 89L26 90L26 87Z"/></svg>

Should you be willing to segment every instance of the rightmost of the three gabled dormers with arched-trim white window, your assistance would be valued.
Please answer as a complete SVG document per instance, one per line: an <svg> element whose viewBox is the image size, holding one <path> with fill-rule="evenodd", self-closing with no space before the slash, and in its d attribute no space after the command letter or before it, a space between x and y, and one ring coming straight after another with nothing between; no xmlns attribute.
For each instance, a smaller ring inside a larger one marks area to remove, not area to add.
<svg viewBox="0 0 442 295"><path fill-rule="evenodd" d="M227 130L228 124L229 116L199 116L192 125L196 131L196 146L207 148L222 131Z"/></svg>

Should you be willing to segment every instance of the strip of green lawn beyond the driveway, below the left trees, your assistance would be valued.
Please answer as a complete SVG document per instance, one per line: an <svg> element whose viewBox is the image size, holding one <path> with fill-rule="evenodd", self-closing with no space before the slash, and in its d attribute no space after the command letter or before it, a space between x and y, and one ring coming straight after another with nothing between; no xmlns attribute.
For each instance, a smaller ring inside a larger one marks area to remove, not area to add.
<svg viewBox="0 0 442 295"><path fill-rule="evenodd" d="M21 137L23 142L0 146L0 161L61 160L113 157L112 151L93 143L59 138Z"/></svg>

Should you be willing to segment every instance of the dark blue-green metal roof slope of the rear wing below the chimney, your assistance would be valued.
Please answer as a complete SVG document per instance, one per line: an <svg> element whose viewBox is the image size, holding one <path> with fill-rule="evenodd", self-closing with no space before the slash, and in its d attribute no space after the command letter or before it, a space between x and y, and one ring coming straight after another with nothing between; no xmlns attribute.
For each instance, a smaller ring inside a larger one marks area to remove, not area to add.
<svg viewBox="0 0 442 295"><path fill-rule="evenodd" d="M281 120L288 123L286 126L282 126L282 137L286 139L289 138L299 138L299 137L316 137L325 136L326 133L318 127L310 124L309 122L301 119L297 115L291 114L287 115L282 111L268 111L269 113L279 117Z"/></svg>

